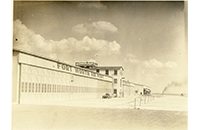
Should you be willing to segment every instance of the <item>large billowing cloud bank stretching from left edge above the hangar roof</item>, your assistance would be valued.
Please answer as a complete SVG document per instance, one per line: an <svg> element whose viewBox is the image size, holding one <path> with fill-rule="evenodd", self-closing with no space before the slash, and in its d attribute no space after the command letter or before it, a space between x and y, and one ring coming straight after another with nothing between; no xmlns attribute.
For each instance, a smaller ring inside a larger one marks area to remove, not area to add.
<svg viewBox="0 0 200 130"><path fill-rule="evenodd" d="M79 25L78 27L82 27ZM46 40L39 34L28 29L20 20L14 21L13 47L31 52L36 52L54 59L66 59L68 57L91 57L91 54L119 54L120 44L116 41L106 41L85 36L82 40L74 37L60 41ZM15 40L17 39L17 41ZM87 55L86 55L87 53Z"/></svg>

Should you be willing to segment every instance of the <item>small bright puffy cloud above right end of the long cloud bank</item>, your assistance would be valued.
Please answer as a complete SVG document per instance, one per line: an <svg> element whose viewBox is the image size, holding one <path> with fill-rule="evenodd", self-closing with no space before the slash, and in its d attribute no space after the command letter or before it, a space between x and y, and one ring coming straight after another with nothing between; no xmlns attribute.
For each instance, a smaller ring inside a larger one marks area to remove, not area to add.
<svg viewBox="0 0 200 130"><path fill-rule="evenodd" d="M105 30L112 33L115 33L118 31L117 27L115 27L112 23L106 22L106 21L93 22L92 26L98 30Z"/></svg>

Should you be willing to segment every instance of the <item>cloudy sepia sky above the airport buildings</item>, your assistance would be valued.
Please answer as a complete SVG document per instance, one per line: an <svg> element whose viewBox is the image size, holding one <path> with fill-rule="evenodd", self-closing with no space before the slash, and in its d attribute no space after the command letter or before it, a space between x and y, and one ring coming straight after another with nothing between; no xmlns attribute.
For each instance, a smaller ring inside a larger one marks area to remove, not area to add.
<svg viewBox="0 0 200 130"><path fill-rule="evenodd" d="M162 92L187 82L184 2L14 2L13 47L74 65L123 66Z"/></svg>

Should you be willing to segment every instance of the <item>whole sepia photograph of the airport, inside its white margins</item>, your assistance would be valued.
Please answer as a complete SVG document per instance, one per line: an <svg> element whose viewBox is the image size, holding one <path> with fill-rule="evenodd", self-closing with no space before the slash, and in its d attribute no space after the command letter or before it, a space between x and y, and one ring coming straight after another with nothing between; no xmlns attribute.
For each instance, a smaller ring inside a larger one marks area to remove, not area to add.
<svg viewBox="0 0 200 130"><path fill-rule="evenodd" d="M188 1L12 8L12 130L188 130Z"/></svg>

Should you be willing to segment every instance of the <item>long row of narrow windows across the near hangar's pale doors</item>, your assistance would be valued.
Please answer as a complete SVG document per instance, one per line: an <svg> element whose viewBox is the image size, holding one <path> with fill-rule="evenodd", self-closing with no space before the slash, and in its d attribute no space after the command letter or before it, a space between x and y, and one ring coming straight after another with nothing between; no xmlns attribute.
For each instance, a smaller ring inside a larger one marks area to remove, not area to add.
<svg viewBox="0 0 200 130"><path fill-rule="evenodd" d="M111 89L22 82L22 93L104 93Z"/></svg>

